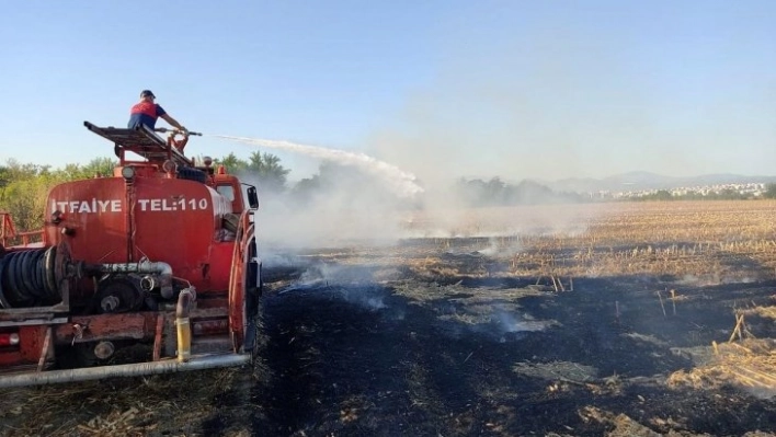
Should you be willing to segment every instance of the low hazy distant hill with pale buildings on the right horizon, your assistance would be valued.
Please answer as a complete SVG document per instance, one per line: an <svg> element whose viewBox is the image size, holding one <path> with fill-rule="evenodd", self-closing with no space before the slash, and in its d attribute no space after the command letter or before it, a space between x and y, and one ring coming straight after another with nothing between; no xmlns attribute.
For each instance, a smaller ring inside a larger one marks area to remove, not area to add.
<svg viewBox="0 0 776 437"><path fill-rule="evenodd" d="M640 189L669 189L681 186L717 184L776 183L776 176L743 176L740 174L704 174L675 177L650 172L628 172L604 179L572 177L559 181L536 181L556 192L597 193Z"/></svg>

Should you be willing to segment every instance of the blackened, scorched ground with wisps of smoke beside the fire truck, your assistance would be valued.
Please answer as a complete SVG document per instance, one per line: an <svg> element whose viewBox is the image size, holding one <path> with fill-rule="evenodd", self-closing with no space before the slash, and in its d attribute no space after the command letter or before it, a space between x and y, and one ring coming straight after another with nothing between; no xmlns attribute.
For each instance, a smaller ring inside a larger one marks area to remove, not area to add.
<svg viewBox="0 0 776 437"><path fill-rule="evenodd" d="M664 284L642 277L577 280L557 294L525 279L395 274L385 285L317 284L267 300L266 358L281 373L259 395L269 406L259 428L602 435L619 414L662 433L775 426L772 401L665 387L694 366L694 346L729 334L733 306L766 301L774 284L685 288L676 315L663 315Z"/></svg>

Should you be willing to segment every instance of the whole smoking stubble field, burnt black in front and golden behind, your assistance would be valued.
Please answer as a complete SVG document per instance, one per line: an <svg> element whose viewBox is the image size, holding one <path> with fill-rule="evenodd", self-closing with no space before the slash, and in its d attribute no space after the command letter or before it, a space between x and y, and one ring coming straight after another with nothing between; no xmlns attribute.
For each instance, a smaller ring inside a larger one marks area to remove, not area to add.
<svg viewBox="0 0 776 437"><path fill-rule="evenodd" d="M7 390L0 433L772 435L775 211L483 209L272 248L255 366Z"/></svg>

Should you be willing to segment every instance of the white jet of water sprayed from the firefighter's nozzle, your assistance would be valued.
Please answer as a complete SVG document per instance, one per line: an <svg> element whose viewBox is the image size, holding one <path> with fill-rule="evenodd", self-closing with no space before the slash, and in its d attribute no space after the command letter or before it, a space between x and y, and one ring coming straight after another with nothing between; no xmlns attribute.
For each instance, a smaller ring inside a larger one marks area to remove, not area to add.
<svg viewBox="0 0 776 437"><path fill-rule="evenodd" d="M402 197L412 197L423 192L423 188L415 183L415 176L412 173L404 172L395 165L391 165L387 162L383 162L364 153L354 153L344 150L327 149L323 147L316 146L297 145L289 141L232 137L229 135L212 136L249 145L269 147L272 149L289 150L298 153L304 153L313 158L334 161L343 165L357 166L367 171L370 174L376 174L377 176L386 181L390 186L391 191Z"/></svg>

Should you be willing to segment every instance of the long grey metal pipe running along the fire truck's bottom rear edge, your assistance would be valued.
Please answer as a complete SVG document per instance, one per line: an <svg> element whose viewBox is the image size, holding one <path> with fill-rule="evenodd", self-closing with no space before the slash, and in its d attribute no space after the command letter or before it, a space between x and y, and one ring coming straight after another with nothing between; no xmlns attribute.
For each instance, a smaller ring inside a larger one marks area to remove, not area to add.
<svg viewBox="0 0 776 437"><path fill-rule="evenodd" d="M204 370L216 367L242 366L250 363L250 354L208 355L180 363L174 359L136 363L116 366L84 367L80 369L52 370L21 375L0 376L0 389L12 387L42 386L76 381L90 381L115 377L138 377L142 375L173 373L176 371Z"/></svg>

